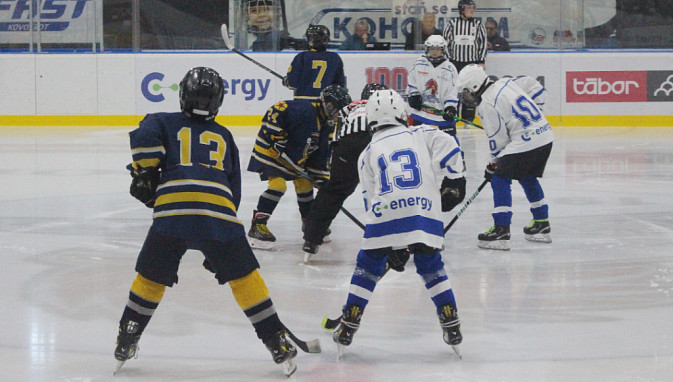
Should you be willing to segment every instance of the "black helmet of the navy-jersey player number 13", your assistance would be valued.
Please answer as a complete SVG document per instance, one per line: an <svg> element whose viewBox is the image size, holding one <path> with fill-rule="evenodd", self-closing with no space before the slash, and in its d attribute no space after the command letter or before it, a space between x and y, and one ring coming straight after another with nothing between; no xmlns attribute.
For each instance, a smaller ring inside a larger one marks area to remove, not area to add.
<svg viewBox="0 0 673 382"><path fill-rule="evenodd" d="M211 120L222 106L224 93L222 77L215 70L190 69L180 81L180 109L189 117Z"/></svg>

